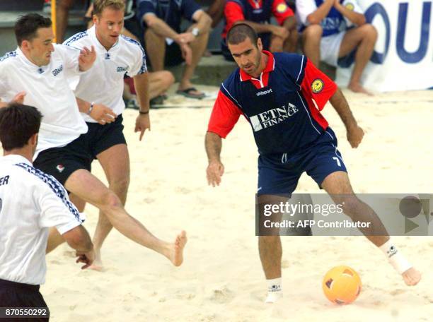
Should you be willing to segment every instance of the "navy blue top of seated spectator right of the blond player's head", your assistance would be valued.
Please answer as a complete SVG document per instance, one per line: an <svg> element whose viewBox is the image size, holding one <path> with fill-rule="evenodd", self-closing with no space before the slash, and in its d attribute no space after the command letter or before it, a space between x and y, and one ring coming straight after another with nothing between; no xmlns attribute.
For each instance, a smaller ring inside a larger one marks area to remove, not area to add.
<svg viewBox="0 0 433 322"><path fill-rule="evenodd" d="M194 0L138 0L137 16L143 23L146 13L154 13L176 32L180 32L182 18L192 21L195 11L201 7Z"/></svg>

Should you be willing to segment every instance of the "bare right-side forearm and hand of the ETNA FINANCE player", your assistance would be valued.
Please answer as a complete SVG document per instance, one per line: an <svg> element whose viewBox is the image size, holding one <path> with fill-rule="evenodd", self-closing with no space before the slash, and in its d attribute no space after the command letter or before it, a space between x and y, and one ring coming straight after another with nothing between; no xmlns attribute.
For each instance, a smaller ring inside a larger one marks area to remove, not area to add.
<svg viewBox="0 0 433 322"><path fill-rule="evenodd" d="M346 97L341 93L340 88L337 88L337 91L329 101L346 126L347 141L349 141L352 148L357 148L364 137L364 131L358 126L356 119L354 119Z"/></svg>

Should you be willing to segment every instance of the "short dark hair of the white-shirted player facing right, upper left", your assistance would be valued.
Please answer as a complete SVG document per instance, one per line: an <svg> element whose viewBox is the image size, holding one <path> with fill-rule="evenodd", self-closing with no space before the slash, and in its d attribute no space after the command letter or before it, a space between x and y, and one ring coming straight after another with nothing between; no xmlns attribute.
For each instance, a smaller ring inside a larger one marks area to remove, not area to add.
<svg viewBox="0 0 433 322"><path fill-rule="evenodd" d="M39 28L50 28L52 25L50 18L45 18L37 13L28 13L21 16L15 23L15 37L18 46L23 40L33 40Z"/></svg>

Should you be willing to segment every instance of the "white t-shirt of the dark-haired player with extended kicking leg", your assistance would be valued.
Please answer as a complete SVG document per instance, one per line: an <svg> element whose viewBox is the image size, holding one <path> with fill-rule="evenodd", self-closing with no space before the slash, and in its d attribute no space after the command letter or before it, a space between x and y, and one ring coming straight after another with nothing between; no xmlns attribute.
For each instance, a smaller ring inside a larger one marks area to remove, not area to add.
<svg viewBox="0 0 433 322"><path fill-rule="evenodd" d="M54 44L50 64L36 66L17 48L0 58L0 98L25 91L24 104L42 113L37 154L62 147L87 132L67 78L79 74L79 50Z"/></svg>

